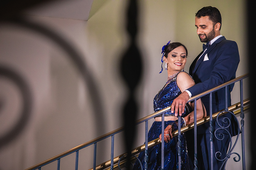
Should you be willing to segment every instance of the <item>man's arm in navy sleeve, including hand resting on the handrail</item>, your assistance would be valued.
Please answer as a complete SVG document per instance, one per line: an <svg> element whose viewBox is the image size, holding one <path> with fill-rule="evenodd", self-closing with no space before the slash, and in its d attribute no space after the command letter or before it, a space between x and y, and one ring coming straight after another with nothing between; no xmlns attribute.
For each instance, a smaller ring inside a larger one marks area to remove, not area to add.
<svg viewBox="0 0 256 170"><path fill-rule="evenodd" d="M210 77L204 82L198 83L187 89L189 92L191 92L192 96L229 81L236 73L239 63L239 53L236 42L229 41L220 47L219 52L220 54L217 54L219 56L217 56L213 65ZM179 108L179 104L181 103L183 105L184 103L187 103L188 99L188 93L182 92L176 99L173 100L171 112L173 113L174 109L178 111L177 108ZM184 109L185 108L183 107L182 109L179 109L179 115L182 115ZM178 113L175 113L175 116L177 116L177 114Z"/></svg>

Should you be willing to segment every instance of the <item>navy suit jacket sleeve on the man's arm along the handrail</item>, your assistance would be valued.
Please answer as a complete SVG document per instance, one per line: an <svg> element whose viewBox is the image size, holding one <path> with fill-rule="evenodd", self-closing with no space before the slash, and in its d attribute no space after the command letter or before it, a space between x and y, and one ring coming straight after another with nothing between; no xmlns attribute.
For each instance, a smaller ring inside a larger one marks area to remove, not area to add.
<svg viewBox="0 0 256 170"><path fill-rule="evenodd" d="M212 63L213 67L210 76L207 71L204 72L200 70L200 74L205 74L203 77L208 79L197 83L187 90L191 92L192 96L195 96L235 78L239 61L239 52L235 41L228 41L222 45L220 44L220 48L216 54L216 60L212 61L214 63Z"/></svg>

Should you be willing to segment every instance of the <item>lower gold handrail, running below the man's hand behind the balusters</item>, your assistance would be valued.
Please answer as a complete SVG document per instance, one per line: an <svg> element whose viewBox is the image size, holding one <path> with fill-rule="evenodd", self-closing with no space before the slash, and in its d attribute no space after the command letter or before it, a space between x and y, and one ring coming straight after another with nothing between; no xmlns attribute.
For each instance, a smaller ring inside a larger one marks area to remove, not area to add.
<svg viewBox="0 0 256 170"><path fill-rule="evenodd" d="M244 100L244 106L248 105L249 103L250 103L250 99ZM231 112L231 111L234 111L234 110L236 110L236 109L238 109L238 108L240 108L240 107L241 107L241 103L238 102L238 103L236 103L236 104L234 104L234 105L232 105L232 106L229 106L229 107L228 107L228 111ZM249 108L249 107L244 107L244 110L246 110L246 109L248 109L248 108ZM222 112L222 111L224 111L224 109L223 109L223 110L220 110L220 111L218 111L218 112L215 112L214 114L212 114L212 119L215 119L215 118L217 117L217 115L218 115L220 112ZM227 113L227 112L222 112L222 113L220 114L220 116L221 116L221 115L224 115L224 114L226 114L226 113ZM238 114L238 113L239 113L239 110L236 111L236 112L234 112L234 114ZM210 121L210 116L206 116L206 117L204 117L204 118L202 118L202 119L197 120L197 121L196 121L196 126L199 126L199 125L204 124L205 122L209 122L209 121ZM182 127L180 131L181 131L181 133L183 133L183 132L186 132L186 131L188 131L189 129L193 129L193 128L194 128L194 123L191 123L191 124L189 124L189 125L187 125L187 126ZM174 132L172 132L172 136L175 137L175 136L178 135L178 133L179 133L178 130L175 130ZM156 144L159 144L159 143L160 143L159 138L157 138L157 139L155 139L155 140L152 140L152 141L148 142L148 148L150 148L150 147L152 147L152 146L155 146ZM136 154L138 154L139 152L144 151L144 150L145 150L145 144L143 144L143 145L141 145L141 146L139 146L139 147L133 149L133 150L132 150L132 154L133 154L133 155L136 155ZM120 159L122 156L126 155L126 154L127 154L127 153L124 153L124 154L122 154L122 155L119 155L119 156L115 157L115 158L114 158L114 161L113 161L114 164L116 164L116 163L119 161L119 159ZM124 159L126 159L125 156L122 158L122 160L124 160ZM108 160L108 161L106 161L106 162L104 162L104 163L102 163L102 164L96 166L96 170L105 169L105 168L107 168L107 167L110 166L110 163L111 163L111 160ZM91 168L91 169L89 169L89 170L93 170L93 168Z"/></svg>

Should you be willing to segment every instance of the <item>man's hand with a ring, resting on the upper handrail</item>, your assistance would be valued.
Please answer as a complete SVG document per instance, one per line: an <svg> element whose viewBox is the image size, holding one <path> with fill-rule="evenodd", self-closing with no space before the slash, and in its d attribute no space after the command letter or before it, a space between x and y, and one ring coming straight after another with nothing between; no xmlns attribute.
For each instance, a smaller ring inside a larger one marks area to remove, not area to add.
<svg viewBox="0 0 256 170"><path fill-rule="evenodd" d="M181 116L185 111L185 104L188 102L188 99L188 93L186 91L182 92L176 99L173 100L171 112L174 113L175 108L175 116L178 116L178 110Z"/></svg>

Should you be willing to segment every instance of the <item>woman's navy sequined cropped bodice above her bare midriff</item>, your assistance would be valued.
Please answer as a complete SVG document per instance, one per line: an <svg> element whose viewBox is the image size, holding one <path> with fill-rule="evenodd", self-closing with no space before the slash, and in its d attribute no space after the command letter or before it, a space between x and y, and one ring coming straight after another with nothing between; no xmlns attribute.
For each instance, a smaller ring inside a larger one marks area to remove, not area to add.
<svg viewBox="0 0 256 170"><path fill-rule="evenodd" d="M177 75L166 86L164 86L163 89L161 89L158 92L158 94L156 94L154 98L155 112L171 106L173 100L181 94L180 88L178 87L177 81L176 81ZM187 115L190 109L191 109L190 106L186 104L185 112L182 115L185 115L185 114ZM158 116L161 116L161 115L158 115ZM174 113L172 113L170 110L170 111L167 111L164 114L164 116L174 116Z"/></svg>

